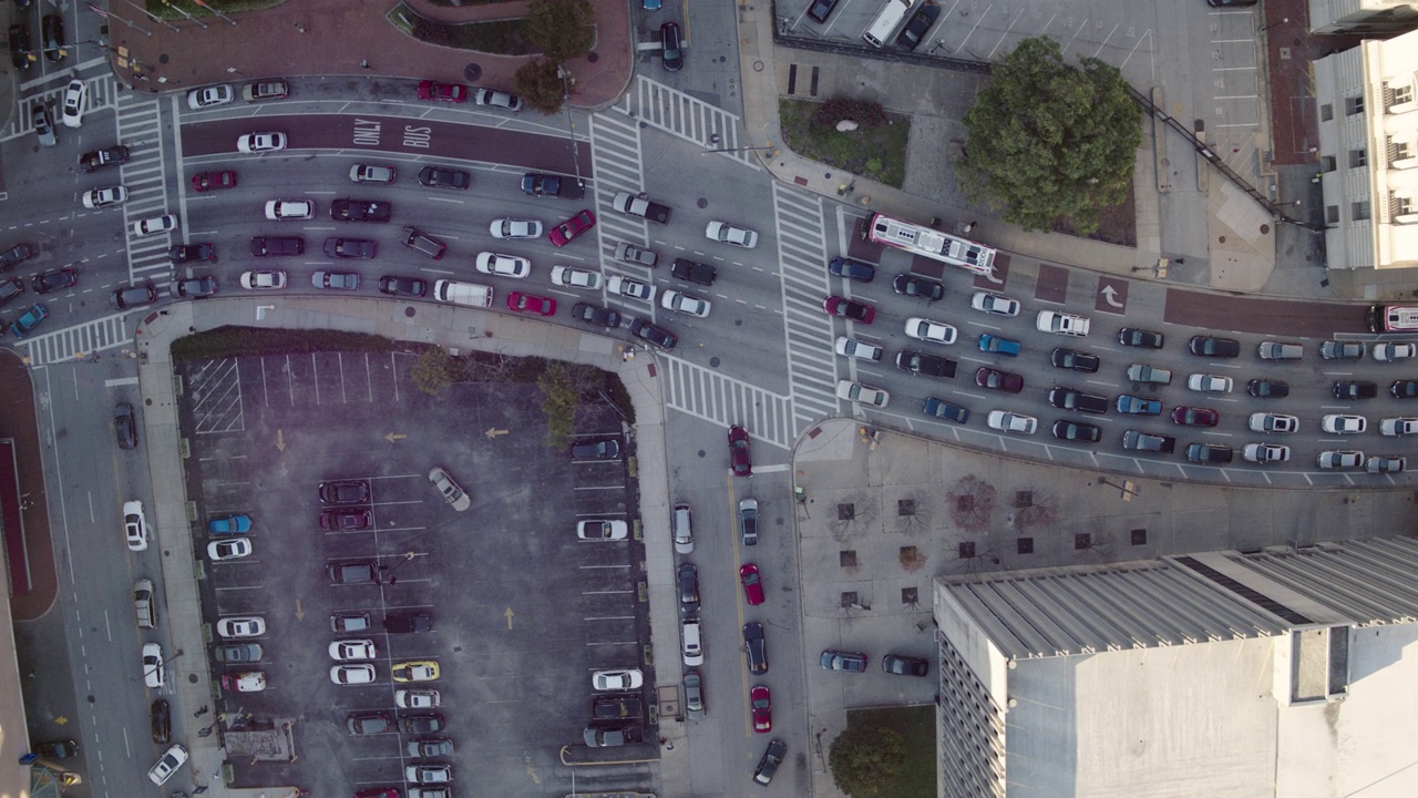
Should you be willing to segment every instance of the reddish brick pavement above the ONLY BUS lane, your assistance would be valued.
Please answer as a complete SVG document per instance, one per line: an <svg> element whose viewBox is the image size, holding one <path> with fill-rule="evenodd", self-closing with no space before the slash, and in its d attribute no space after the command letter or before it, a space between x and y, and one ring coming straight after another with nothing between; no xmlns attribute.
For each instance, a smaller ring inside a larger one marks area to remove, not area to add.
<svg viewBox="0 0 1418 798"><path fill-rule="evenodd" d="M566 64L576 80L571 105L580 108L610 105L634 72L630 4L590 1L597 18L596 48ZM520 0L467 7L440 7L427 0L407 3L442 21L509 18L526 9ZM153 94L292 75L434 78L510 89L513 72L533 58L424 44L386 18L390 9L387 3L302 0L228 14L235 24L220 17L203 18L206 28L196 21L173 21L177 28L173 31L119 6L115 13L152 35L109 18L109 44L128 55L115 53L113 71L123 82ZM481 70L476 80L468 78L471 65Z"/></svg>

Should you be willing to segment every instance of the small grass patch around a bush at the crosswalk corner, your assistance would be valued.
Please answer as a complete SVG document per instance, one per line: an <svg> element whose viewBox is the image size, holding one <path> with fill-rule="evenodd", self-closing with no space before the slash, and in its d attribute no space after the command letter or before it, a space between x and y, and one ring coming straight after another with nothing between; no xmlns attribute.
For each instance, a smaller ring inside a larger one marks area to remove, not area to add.
<svg viewBox="0 0 1418 798"><path fill-rule="evenodd" d="M813 124L818 105L807 99L778 101L783 141L793 152L899 189L906 180L910 116L886 114L886 122L876 128L842 133L835 126Z"/></svg>

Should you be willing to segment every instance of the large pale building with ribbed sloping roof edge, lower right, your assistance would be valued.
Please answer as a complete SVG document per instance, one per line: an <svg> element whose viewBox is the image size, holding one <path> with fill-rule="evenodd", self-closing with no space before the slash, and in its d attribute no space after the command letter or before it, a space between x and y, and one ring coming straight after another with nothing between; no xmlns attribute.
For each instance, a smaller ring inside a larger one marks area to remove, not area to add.
<svg viewBox="0 0 1418 798"><path fill-rule="evenodd" d="M934 584L942 798L1418 795L1418 540Z"/></svg>

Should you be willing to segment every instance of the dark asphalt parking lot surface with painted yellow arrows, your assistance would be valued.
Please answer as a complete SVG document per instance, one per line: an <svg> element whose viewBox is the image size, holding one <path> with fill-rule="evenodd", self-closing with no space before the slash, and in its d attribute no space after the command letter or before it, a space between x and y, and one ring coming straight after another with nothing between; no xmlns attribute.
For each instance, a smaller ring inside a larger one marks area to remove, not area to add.
<svg viewBox="0 0 1418 798"><path fill-rule="evenodd" d="M208 638L218 618L265 621L251 640L262 659L216 666L213 682L259 669L267 689L221 696L214 709L228 721L238 711L296 718L295 761L233 761L235 787L296 784L349 795L403 787L407 765L437 761L451 765L455 784L488 792L529 794L536 784L536 794L566 794L560 748L581 744L591 672L641 667L651 703L644 548L634 534L580 541L576 528L588 518L638 528L627 514L632 442L620 417L604 403L584 406L577 439L614 436L620 454L573 461L543 443L535 385L465 383L430 396L413 386L413 364L407 355L332 352L211 361L180 373L196 548L206 552L216 540L206 532L210 517L247 514L252 523L250 557L200 564ZM467 511L431 484L435 466L471 496ZM322 530L329 505L319 486L329 480L367 486L367 498L350 508L356 527L367 511L369 528ZM370 562L377 582L332 584L330 562ZM370 629L337 633L336 612L369 613ZM387 613L410 612L428 613L432 629L386 630ZM352 663L373 665L372 683L332 683L335 640L373 642L373 660ZM404 662L434 662L440 676L396 683L391 667ZM396 709L396 689L408 687L435 689L440 706ZM387 713L396 730L350 734L346 717L354 711ZM442 730L403 731L407 716L428 713L442 716ZM652 728L647 734L654 738ZM454 753L410 755L415 738L448 738ZM579 784L621 789L648 780L632 765L577 774Z"/></svg>

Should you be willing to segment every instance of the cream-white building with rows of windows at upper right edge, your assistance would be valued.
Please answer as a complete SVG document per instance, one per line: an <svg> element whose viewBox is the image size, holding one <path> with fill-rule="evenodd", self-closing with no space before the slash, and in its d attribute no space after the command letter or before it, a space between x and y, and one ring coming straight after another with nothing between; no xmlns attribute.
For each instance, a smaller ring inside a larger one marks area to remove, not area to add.
<svg viewBox="0 0 1418 798"><path fill-rule="evenodd" d="M1418 267L1418 31L1314 61L1330 268Z"/></svg>

